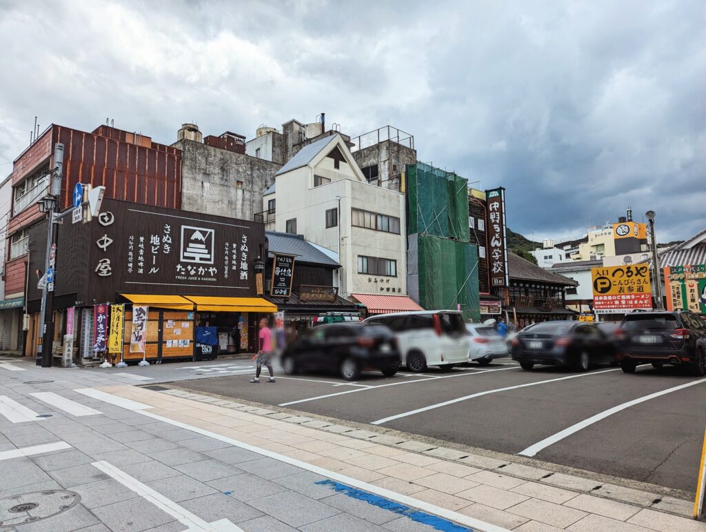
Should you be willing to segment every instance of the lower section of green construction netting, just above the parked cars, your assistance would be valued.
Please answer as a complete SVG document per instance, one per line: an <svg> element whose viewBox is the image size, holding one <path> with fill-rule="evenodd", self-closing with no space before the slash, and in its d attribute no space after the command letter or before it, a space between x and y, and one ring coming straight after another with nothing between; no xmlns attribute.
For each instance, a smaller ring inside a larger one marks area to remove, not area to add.
<svg viewBox="0 0 706 532"><path fill-rule="evenodd" d="M425 309L457 309L463 318L480 321L478 251L474 244L446 238L417 237L419 305Z"/></svg>

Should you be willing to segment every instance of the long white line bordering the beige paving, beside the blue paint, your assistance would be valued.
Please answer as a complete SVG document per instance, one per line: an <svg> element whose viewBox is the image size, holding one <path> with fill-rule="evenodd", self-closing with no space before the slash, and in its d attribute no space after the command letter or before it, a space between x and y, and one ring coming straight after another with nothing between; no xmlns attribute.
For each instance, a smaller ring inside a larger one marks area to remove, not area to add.
<svg viewBox="0 0 706 532"><path fill-rule="evenodd" d="M391 490L386 490L383 487L369 484L363 482L362 480L357 480L357 478L341 475L340 473L335 473L334 471L328 471L328 469L324 469L319 466L314 466L311 463L290 458L289 456L285 456L283 454L277 454L273 451L268 451L268 449L262 449L261 447L255 447L254 445L239 442L237 439L222 436L220 434L217 434L216 432L210 432L210 430L201 429L199 427L193 427L193 425L187 425L186 423L182 423L180 421L164 418L164 416L162 415L153 414L151 412L147 412L146 410L139 410L138 414L146 415L148 418L169 423L169 425L174 425L175 427L191 430L191 432L196 432L197 434L200 434L202 436L208 436L213 439L217 439L220 442L231 444L234 447L239 447L240 449L246 449L247 451L251 451L256 454L261 454L262 456L267 456L268 458L275 459L284 463L288 463L290 466L295 466L304 469L305 471L311 471L311 473L316 473L317 475L330 478L331 480L336 480L337 482L340 482L342 484L346 484L351 487L356 487L359 490L364 490L366 492L379 495L380 497L385 497L385 499L390 499L395 502L399 502L400 504L405 504L405 506L418 508L422 512L434 514L436 516L442 517L443 519L455 521L458 524L469 526L470 528L474 528L479 531L509 532L506 528L502 528L501 526L496 526L490 523L486 523L485 521L481 521L480 519L475 519L473 517L459 514L458 512L453 512L452 510L436 506L436 504L431 504L426 501L414 499L413 497L409 497L408 495L402 495Z"/></svg>

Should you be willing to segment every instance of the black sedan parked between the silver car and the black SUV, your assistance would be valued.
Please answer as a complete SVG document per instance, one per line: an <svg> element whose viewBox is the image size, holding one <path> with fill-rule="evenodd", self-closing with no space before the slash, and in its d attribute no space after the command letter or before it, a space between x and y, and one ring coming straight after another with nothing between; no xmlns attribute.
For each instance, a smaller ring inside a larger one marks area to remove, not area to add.
<svg viewBox="0 0 706 532"><path fill-rule="evenodd" d="M614 362L615 352L594 324L544 321L520 331L513 340L513 360L519 361L523 370L549 364L585 372L591 365Z"/></svg>

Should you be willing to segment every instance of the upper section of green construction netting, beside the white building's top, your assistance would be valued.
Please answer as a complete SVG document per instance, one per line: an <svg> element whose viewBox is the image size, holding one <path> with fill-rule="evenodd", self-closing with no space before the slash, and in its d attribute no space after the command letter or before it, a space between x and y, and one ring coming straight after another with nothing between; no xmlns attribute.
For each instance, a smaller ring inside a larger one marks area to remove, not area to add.
<svg viewBox="0 0 706 532"><path fill-rule="evenodd" d="M407 235L468 242L468 180L415 162L407 165Z"/></svg>

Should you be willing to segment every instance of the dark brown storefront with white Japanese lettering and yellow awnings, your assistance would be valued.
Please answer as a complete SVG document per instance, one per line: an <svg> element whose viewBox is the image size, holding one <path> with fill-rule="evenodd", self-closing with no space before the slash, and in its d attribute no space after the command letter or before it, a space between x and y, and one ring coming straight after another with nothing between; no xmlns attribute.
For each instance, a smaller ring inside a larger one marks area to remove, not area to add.
<svg viewBox="0 0 706 532"><path fill-rule="evenodd" d="M253 352L277 312L258 296L264 244L261 223L106 200L90 223L61 225L56 347L73 336L78 362Z"/></svg>

